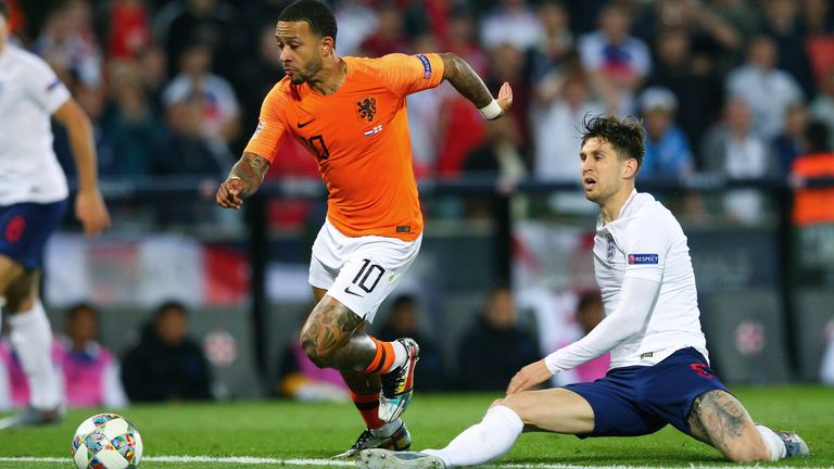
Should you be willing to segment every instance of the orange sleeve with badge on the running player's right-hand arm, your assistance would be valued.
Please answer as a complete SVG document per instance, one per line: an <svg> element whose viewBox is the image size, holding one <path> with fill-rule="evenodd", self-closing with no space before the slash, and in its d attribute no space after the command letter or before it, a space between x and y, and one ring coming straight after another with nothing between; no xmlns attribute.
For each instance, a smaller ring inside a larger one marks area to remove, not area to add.
<svg viewBox="0 0 834 469"><path fill-rule="evenodd" d="M380 59L381 81L396 96L434 88L443 81L443 59L439 54L389 54Z"/></svg>

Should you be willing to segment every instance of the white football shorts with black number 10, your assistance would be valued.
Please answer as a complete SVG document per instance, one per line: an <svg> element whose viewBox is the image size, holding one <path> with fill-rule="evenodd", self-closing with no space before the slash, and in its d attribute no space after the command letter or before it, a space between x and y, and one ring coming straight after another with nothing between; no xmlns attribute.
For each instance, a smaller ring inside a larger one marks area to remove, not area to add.
<svg viewBox="0 0 834 469"><path fill-rule="evenodd" d="M420 251L414 241L380 236L351 238L329 220L318 231L309 259L309 284L371 322Z"/></svg>

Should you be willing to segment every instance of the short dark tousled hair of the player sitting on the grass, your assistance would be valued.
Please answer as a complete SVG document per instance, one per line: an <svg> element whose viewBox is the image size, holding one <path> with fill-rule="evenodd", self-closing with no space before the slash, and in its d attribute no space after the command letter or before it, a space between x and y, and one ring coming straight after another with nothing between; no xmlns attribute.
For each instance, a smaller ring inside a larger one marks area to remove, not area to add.
<svg viewBox="0 0 834 469"><path fill-rule="evenodd" d="M583 147L592 138L598 138L610 143L620 159L636 160L637 168L643 165L646 131L640 119L631 115L620 118L614 114L585 116L582 127Z"/></svg>

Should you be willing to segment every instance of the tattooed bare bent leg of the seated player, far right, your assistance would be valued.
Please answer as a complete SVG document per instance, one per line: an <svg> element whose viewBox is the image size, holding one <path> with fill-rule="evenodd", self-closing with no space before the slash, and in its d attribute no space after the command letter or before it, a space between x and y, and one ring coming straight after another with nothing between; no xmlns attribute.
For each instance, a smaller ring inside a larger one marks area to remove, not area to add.
<svg viewBox="0 0 834 469"><path fill-rule="evenodd" d="M773 459L772 449L742 403L726 391L709 391L692 404L688 423L697 440L737 462Z"/></svg>

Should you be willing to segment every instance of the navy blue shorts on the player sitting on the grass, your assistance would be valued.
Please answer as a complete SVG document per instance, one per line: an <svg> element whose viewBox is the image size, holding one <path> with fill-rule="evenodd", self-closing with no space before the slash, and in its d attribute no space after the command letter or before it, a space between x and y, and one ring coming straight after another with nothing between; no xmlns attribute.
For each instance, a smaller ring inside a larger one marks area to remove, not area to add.
<svg viewBox="0 0 834 469"><path fill-rule="evenodd" d="M708 391L728 391L693 347L654 366L615 368L594 382L564 388L594 409L594 431L580 436L639 436L667 423L691 435L687 418L695 398Z"/></svg>

